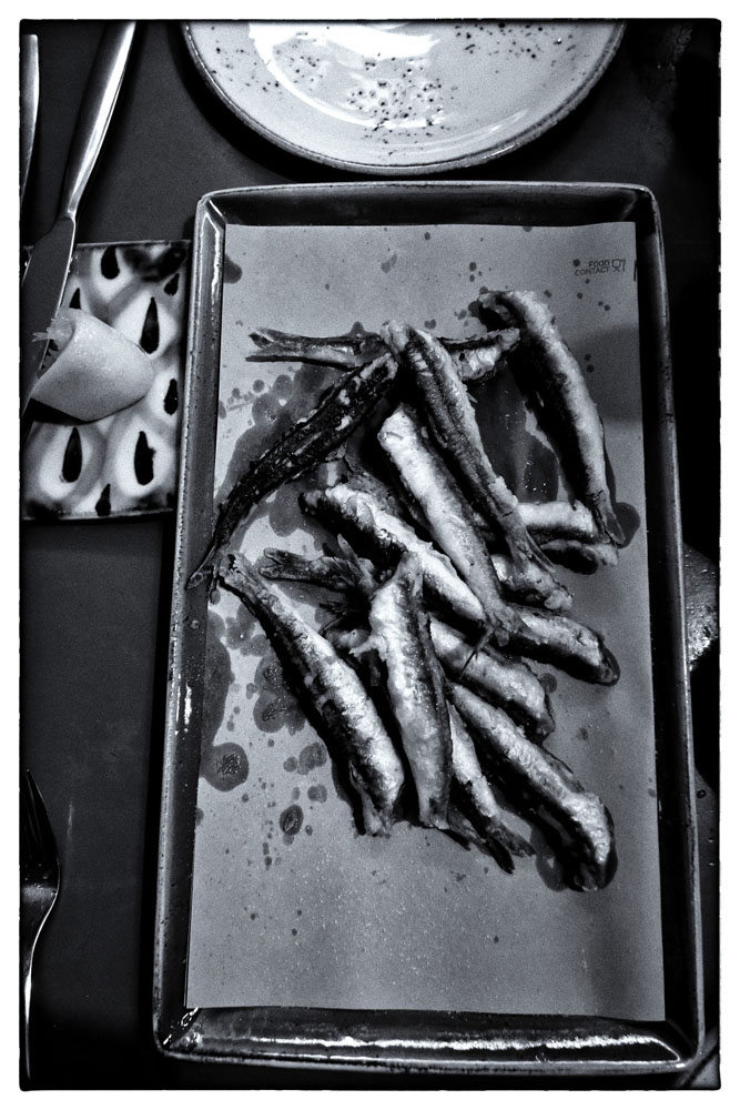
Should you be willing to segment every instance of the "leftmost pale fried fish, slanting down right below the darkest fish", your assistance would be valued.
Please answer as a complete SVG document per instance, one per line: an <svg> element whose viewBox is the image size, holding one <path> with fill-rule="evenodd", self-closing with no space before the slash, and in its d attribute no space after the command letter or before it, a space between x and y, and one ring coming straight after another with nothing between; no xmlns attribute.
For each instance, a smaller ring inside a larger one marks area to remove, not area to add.
<svg viewBox="0 0 740 1110"><path fill-rule="evenodd" d="M220 581L263 624L318 731L328 734L348 770L366 833L393 824L404 769L379 714L352 667L265 583L242 555L221 564Z"/></svg>

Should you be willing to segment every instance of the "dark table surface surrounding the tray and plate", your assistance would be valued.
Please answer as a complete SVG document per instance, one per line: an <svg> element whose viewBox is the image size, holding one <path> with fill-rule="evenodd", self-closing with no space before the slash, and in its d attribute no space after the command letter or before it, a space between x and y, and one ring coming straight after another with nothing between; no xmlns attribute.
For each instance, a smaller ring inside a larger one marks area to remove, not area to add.
<svg viewBox="0 0 740 1110"><path fill-rule="evenodd" d="M53 220L101 28L21 24L38 36L41 63L22 243ZM719 39L714 20L632 21L604 78L553 130L486 165L438 175L652 190L665 233L683 534L710 559L719 534ZM176 22L141 22L79 241L190 239L197 200L211 190L339 180L352 178L293 158L233 119L199 79ZM174 518L24 524L20 542L21 760L47 800L63 881L37 951L31 1086L356 1087L352 1077L189 1066L156 1053L151 966ZM718 978L717 669L710 652L692 687L710 1029ZM641 1077L635 1086L667 1082ZM713 1062L691 1082L714 1086ZM449 1077L444 1083L455 1086Z"/></svg>

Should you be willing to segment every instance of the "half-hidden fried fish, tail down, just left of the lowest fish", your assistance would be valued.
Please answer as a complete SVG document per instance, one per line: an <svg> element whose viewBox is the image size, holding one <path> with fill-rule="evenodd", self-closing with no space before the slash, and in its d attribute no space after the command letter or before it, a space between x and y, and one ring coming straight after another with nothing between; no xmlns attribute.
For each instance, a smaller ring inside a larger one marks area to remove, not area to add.
<svg viewBox="0 0 740 1110"><path fill-rule="evenodd" d="M507 826L506 815L480 769L470 734L454 705L448 705L448 713L453 737L454 807L469 821L476 840L510 874L514 870L511 856L531 856L534 849L524 837ZM465 835L464 827L459 824L455 831Z"/></svg>

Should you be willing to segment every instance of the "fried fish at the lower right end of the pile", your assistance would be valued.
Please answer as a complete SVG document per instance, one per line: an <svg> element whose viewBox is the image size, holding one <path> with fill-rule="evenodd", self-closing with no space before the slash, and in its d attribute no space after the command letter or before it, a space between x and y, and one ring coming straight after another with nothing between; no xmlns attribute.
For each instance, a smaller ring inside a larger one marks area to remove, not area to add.
<svg viewBox="0 0 740 1110"><path fill-rule="evenodd" d="M526 807L556 841L567 881L576 890L600 890L614 876L614 825L601 799L585 790L569 767L533 744L501 709L464 686L448 697L507 798Z"/></svg>

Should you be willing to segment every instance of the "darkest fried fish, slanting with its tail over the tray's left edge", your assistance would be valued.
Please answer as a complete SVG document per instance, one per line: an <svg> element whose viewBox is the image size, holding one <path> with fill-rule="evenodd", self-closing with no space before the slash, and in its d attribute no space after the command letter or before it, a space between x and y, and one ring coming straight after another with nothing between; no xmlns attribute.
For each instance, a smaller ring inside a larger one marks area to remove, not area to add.
<svg viewBox="0 0 740 1110"><path fill-rule="evenodd" d="M323 462L352 435L391 389L396 371L388 354L353 371L250 465L221 505L209 549L190 576L189 587L215 577L236 528L263 497Z"/></svg>

